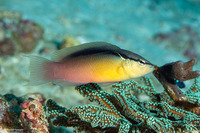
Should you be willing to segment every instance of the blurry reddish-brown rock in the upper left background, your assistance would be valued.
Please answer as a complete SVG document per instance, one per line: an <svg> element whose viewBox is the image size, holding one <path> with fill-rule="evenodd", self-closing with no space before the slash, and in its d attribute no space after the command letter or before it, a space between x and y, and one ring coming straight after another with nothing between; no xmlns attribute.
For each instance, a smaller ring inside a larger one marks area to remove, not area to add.
<svg viewBox="0 0 200 133"><path fill-rule="evenodd" d="M18 12L0 11L0 55L30 52L43 37L43 29Z"/></svg>

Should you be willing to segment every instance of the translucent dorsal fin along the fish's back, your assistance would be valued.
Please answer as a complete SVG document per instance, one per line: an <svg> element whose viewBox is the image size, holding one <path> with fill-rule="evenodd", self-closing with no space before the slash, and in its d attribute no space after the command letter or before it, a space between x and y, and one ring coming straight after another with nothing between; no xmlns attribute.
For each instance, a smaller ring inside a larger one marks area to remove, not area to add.
<svg viewBox="0 0 200 133"><path fill-rule="evenodd" d="M78 46L63 48L52 53L52 61L61 61L66 59L68 56L78 55L80 53L88 52L91 49L91 52L104 52L104 51L115 51L120 49L119 47L112 45L107 42L90 42L84 43ZM74 55L73 55L74 54Z"/></svg>

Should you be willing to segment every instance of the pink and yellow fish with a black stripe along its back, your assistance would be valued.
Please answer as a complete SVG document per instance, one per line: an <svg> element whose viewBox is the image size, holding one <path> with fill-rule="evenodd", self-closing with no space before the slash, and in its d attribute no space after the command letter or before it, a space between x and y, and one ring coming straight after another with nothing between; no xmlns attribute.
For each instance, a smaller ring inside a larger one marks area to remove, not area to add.
<svg viewBox="0 0 200 133"><path fill-rule="evenodd" d="M137 78L154 70L142 56L107 42L90 42L52 53L51 60L29 56L30 82L41 85L115 83Z"/></svg>

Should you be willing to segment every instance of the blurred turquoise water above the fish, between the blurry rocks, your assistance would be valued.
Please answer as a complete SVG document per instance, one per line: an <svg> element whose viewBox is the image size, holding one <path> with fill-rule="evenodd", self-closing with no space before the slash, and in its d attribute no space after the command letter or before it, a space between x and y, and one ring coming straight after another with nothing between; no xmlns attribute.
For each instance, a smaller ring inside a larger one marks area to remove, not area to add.
<svg viewBox="0 0 200 133"><path fill-rule="evenodd" d="M151 46L152 36L182 24L198 27L200 12L197 0L1 0L0 9L19 11L24 19L39 23L46 38L67 34L82 42L103 40L130 48L150 60L157 58L158 52L162 59L154 62L159 64L181 57L166 58L168 52Z"/></svg>

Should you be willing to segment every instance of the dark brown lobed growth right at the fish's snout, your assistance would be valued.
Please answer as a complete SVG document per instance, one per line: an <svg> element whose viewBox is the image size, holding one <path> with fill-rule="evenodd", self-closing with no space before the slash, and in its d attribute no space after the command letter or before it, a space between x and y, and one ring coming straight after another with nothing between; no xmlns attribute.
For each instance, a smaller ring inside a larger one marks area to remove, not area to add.
<svg viewBox="0 0 200 133"><path fill-rule="evenodd" d="M186 93L182 92L175 82L176 80L183 82L199 77L200 71L192 71L194 64L194 59L186 63L177 61L157 68L153 74L163 85L165 91L175 104L200 115L200 101L198 95L195 94L200 89L197 79L195 80L194 85Z"/></svg>

